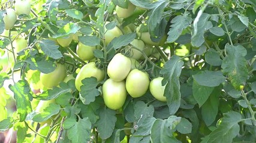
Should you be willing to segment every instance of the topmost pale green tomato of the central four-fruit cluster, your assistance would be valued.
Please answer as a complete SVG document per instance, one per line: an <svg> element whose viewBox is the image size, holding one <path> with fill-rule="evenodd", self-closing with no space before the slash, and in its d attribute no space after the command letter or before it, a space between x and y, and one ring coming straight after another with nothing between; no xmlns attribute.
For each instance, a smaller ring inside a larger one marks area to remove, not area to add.
<svg viewBox="0 0 256 143"><path fill-rule="evenodd" d="M107 74L115 82L121 82L131 70L131 60L121 53L116 54L107 66Z"/></svg>

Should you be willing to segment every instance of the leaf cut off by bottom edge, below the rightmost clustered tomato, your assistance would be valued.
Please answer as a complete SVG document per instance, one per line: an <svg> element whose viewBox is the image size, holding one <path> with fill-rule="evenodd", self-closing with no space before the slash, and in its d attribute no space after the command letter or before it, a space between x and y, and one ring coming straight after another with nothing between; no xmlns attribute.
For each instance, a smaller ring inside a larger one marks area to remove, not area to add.
<svg viewBox="0 0 256 143"><path fill-rule="evenodd" d="M179 142L172 133L175 131L173 129L180 122L180 119L180 117L176 116L170 116L165 120L156 119L151 129L150 138L152 143Z"/></svg>

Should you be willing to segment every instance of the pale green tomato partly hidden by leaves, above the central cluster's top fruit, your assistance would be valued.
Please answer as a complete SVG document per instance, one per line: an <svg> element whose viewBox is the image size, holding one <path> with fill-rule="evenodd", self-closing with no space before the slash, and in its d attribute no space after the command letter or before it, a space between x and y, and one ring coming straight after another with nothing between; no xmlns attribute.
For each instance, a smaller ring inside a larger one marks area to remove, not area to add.
<svg viewBox="0 0 256 143"><path fill-rule="evenodd" d="M106 22L106 24L109 23L109 21ZM109 44L114 38L119 37L122 35L122 31L118 27L114 27L113 29L107 30L105 28L105 42L106 45Z"/></svg>

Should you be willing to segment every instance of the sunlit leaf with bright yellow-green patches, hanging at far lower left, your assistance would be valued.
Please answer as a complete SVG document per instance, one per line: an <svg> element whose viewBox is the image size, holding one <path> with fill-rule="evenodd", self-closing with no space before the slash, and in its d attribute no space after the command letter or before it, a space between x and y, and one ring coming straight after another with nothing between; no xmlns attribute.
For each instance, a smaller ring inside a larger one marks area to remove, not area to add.
<svg viewBox="0 0 256 143"><path fill-rule="evenodd" d="M14 83L14 85L9 85L9 88L14 93L17 111L20 115L20 122L25 121L28 113L31 113L32 111L30 103L32 100L32 94L29 85L28 83L19 80L19 82Z"/></svg>

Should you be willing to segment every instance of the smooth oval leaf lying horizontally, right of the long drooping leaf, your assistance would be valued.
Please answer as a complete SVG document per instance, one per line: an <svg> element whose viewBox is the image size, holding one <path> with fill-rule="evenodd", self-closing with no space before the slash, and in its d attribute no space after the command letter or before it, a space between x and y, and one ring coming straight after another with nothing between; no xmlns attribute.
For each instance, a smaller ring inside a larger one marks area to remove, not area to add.
<svg viewBox="0 0 256 143"><path fill-rule="evenodd" d="M207 80L206 80L207 78ZM219 86L222 82L225 82L225 76L222 75L221 71L199 71L193 75L193 79L203 86L215 87Z"/></svg>

